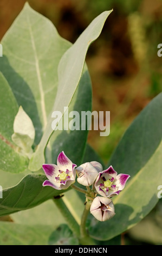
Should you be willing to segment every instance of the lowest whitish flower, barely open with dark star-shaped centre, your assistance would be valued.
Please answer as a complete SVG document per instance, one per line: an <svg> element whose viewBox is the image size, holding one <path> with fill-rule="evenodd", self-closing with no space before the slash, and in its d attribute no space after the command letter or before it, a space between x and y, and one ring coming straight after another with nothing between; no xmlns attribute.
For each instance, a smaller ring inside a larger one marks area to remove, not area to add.
<svg viewBox="0 0 162 256"><path fill-rule="evenodd" d="M96 197L90 206L90 213L98 221L110 220L115 215L114 204L110 198Z"/></svg>

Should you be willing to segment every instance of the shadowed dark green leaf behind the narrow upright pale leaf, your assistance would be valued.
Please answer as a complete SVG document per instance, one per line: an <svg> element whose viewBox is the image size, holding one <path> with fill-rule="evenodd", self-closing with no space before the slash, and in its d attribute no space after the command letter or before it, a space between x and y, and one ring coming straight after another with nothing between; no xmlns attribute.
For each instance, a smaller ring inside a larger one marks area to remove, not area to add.
<svg viewBox="0 0 162 256"><path fill-rule="evenodd" d="M91 111L92 108L92 86L88 71L83 71L79 86L74 93L73 99L68 108L68 114L77 112L81 117L82 111ZM63 118L64 119L64 118ZM69 118L69 122L73 120ZM68 122L66 123L68 124ZM49 147L46 150L46 162L56 163L57 156L63 150L64 153L72 160L73 163L79 166L82 161L82 157L85 153L86 141L88 136L88 130L81 130L81 118L80 118L80 130L68 129L59 131L56 130L50 137ZM73 145L70 147L70 145ZM52 159L48 158L48 150L51 147Z"/></svg>

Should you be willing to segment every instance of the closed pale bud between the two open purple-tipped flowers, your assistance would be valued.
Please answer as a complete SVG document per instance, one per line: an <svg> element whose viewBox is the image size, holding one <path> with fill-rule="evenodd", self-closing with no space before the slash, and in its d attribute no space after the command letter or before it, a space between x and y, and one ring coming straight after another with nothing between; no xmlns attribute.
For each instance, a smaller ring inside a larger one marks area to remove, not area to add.
<svg viewBox="0 0 162 256"><path fill-rule="evenodd" d="M83 163L76 168L78 174L77 182L83 186L90 186L93 184L101 170L102 166L99 162L92 161Z"/></svg>

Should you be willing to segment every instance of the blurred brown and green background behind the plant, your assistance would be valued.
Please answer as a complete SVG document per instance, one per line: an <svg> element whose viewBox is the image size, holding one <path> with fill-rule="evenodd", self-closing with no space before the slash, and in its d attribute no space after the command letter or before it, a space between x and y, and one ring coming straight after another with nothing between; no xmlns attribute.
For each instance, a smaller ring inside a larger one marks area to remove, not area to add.
<svg viewBox="0 0 162 256"><path fill-rule="evenodd" d="M1 0L0 40L25 0ZM102 33L89 48L86 62L93 86L93 110L110 111L111 132L90 131L89 144L107 163L129 124L162 91L161 0L29 0L50 19L59 34L74 43L102 11L113 9ZM43 33L43 31L42 31ZM131 142L130 142L131 143ZM162 203L144 221L123 235L126 244L162 244Z"/></svg>

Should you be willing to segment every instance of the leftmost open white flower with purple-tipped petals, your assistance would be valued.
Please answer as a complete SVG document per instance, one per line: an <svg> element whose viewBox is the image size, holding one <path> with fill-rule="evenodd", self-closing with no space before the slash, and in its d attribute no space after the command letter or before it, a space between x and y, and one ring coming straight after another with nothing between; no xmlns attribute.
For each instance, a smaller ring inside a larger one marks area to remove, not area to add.
<svg viewBox="0 0 162 256"><path fill-rule="evenodd" d="M76 164L72 163L62 151L57 157L56 164L43 164L42 168L48 180L43 186L51 186L56 190L65 190L75 182Z"/></svg>

